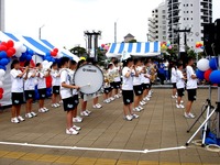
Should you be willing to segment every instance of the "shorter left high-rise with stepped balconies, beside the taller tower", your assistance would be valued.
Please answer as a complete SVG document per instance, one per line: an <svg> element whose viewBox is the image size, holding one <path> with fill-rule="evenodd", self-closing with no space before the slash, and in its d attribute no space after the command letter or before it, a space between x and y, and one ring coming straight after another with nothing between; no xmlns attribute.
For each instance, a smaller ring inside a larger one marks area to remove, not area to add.
<svg viewBox="0 0 220 165"><path fill-rule="evenodd" d="M152 10L152 18L148 19L147 38L150 42L166 41L166 6L164 2Z"/></svg>

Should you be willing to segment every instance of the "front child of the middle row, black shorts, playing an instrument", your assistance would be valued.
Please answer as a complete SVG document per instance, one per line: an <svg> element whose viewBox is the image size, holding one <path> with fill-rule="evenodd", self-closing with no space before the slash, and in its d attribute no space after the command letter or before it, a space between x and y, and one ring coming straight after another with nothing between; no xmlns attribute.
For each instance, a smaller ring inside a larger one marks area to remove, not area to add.
<svg viewBox="0 0 220 165"><path fill-rule="evenodd" d="M131 121L133 118L139 118L135 113L133 113L132 110L132 103L134 100L134 94L133 94L133 73L132 70L134 69L135 76L138 76L136 69L133 65L133 59L128 58L124 62L124 67L122 69L122 96L123 96L123 114L124 119L128 121ZM129 114L130 112L130 114Z"/></svg>

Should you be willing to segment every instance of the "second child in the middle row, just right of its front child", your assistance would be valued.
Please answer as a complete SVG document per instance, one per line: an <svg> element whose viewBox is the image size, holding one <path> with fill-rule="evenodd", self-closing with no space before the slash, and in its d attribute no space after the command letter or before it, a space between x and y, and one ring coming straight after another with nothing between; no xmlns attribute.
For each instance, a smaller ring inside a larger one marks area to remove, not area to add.
<svg viewBox="0 0 220 165"><path fill-rule="evenodd" d="M133 111L141 111L143 110L143 107L139 106L141 100L142 100L142 95L143 95L143 88L141 84L141 74L142 74L142 67L141 66L141 59L134 59L134 69L132 70L133 74L135 72L138 75L133 77L133 90L134 90L134 109Z"/></svg>

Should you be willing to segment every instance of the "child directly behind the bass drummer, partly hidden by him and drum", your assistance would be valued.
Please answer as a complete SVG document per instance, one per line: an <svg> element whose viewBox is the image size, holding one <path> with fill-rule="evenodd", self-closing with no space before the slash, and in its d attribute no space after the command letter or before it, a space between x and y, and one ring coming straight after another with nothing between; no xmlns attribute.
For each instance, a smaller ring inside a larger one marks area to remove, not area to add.
<svg viewBox="0 0 220 165"><path fill-rule="evenodd" d="M70 76L72 85L74 85L74 74L76 72L76 68L77 68L77 63L75 61L70 61L69 76ZM82 118L77 116L77 107L78 107L78 103L79 103L78 90L73 89L72 92L73 92L73 96L74 96L74 103L75 103L73 122L82 122Z"/></svg>

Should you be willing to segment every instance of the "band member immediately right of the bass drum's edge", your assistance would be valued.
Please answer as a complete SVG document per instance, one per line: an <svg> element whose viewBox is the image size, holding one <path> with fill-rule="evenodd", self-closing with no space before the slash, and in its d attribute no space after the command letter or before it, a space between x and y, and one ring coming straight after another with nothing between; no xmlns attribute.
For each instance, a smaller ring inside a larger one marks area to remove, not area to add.
<svg viewBox="0 0 220 165"><path fill-rule="evenodd" d="M103 102L109 103L111 102L109 99L109 92L110 92L110 82L109 82L109 75L108 69L103 69Z"/></svg>

